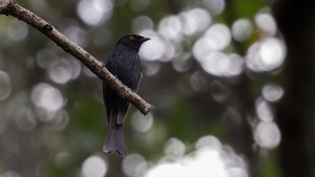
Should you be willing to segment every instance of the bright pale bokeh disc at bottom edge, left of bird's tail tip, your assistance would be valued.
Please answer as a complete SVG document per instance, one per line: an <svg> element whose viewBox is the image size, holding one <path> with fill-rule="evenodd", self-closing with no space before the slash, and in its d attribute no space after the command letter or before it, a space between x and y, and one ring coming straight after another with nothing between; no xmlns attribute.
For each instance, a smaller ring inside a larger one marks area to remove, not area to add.
<svg viewBox="0 0 315 177"><path fill-rule="evenodd" d="M89 158L85 159L82 167L81 173L83 176L89 177L103 177L105 176L108 165L107 159L104 160L106 157L100 157L97 155L92 155Z"/></svg>

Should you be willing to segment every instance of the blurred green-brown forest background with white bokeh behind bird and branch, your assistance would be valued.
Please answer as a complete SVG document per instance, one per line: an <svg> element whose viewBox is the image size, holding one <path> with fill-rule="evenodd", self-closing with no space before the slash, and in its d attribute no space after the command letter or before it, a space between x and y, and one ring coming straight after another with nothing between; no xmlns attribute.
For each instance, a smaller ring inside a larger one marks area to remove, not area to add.
<svg viewBox="0 0 315 177"><path fill-rule="evenodd" d="M17 0L105 62L140 50L123 124L128 158L102 152L102 81L39 31L0 16L1 177L315 176L312 1Z"/></svg>

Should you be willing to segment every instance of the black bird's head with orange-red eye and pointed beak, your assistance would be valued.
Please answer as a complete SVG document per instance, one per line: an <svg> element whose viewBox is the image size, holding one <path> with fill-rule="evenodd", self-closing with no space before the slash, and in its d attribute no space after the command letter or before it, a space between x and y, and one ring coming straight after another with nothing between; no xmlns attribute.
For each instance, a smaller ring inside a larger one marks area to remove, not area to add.
<svg viewBox="0 0 315 177"><path fill-rule="evenodd" d="M135 49L136 51L139 52L141 45L150 39L151 38L149 37L143 37L137 34L131 34L131 35L126 35L126 36L121 37L117 41L117 44L123 43L124 45L130 47L131 49Z"/></svg>

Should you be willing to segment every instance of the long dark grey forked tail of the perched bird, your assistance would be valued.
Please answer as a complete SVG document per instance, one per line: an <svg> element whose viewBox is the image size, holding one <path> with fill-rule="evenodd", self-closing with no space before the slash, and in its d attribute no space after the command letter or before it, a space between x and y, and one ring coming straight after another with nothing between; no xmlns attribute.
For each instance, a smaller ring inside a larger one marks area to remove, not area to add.
<svg viewBox="0 0 315 177"><path fill-rule="evenodd" d="M110 113L106 140L103 146L104 152L116 152L118 155L128 157L123 138L123 124L117 124L117 112Z"/></svg>

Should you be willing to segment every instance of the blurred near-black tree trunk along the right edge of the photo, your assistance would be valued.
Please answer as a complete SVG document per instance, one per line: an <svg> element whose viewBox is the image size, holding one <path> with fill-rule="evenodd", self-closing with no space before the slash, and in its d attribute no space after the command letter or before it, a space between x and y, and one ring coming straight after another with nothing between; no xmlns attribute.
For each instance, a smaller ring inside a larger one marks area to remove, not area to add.
<svg viewBox="0 0 315 177"><path fill-rule="evenodd" d="M315 176L315 1L278 0L273 4L287 56L282 72L284 98L276 106L282 133L283 176Z"/></svg>

